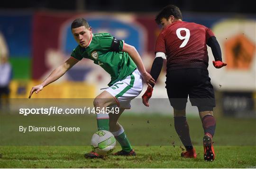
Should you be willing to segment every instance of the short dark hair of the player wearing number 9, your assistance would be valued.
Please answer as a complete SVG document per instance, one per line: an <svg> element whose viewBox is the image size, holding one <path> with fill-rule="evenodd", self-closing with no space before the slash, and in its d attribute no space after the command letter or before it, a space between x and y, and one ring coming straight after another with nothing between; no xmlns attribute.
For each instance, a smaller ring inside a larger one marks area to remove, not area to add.
<svg viewBox="0 0 256 169"><path fill-rule="evenodd" d="M175 19L182 19L180 8L175 5L168 5L158 13L158 15L155 17L155 22L159 25L162 18L168 20L171 15L173 15Z"/></svg>

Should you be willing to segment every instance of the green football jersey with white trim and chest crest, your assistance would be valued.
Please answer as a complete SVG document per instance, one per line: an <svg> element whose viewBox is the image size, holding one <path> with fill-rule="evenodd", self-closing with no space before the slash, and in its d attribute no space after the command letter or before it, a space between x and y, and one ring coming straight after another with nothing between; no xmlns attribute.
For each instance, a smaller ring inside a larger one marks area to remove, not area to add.
<svg viewBox="0 0 256 169"><path fill-rule="evenodd" d="M91 42L86 48L78 45L71 54L75 59L88 58L100 65L111 76L109 86L125 79L137 68L128 53L122 52L124 41L115 41L119 43L119 46L115 46L119 49L113 50L113 38L108 33L92 34Z"/></svg>

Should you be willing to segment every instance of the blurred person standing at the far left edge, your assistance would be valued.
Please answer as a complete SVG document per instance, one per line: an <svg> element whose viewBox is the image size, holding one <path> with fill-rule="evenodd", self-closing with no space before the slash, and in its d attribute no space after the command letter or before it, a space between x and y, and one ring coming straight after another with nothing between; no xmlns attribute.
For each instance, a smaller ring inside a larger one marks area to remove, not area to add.
<svg viewBox="0 0 256 169"><path fill-rule="evenodd" d="M0 33L0 109L9 109L9 84L12 68L8 61L9 51L4 36Z"/></svg>

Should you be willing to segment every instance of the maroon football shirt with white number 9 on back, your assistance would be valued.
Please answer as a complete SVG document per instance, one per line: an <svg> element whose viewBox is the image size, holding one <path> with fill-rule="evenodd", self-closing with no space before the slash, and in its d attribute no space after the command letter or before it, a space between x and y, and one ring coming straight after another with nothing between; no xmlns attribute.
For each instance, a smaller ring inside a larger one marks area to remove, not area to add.
<svg viewBox="0 0 256 169"><path fill-rule="evenodd" d="M159 34L155 52L164 52L167 70L208 67L206 42L214 36L204 25L176 21Z"/></svg>

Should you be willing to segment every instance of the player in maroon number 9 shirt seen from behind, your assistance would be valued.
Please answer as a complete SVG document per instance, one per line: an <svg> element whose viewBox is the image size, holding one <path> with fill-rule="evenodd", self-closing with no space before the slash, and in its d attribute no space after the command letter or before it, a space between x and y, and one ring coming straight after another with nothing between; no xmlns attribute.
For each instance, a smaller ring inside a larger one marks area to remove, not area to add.
<svg viewBox="0 0 256 169"><path fill-rule="evenodd" d="M186 103L189 96L192 106L197 106L204 129L203 146L204 159L213 161L215 152L212 137L215 132L216 121L213 116L215 96L208 74L207 46L211 47L215 61L215 68L222 68L219 43L210 28L204 25L183 22L180 9L174 5L163 8L155 21L162 26L155 44L155 60L150 74L157 80L162 69L163 60L166 65L166 90L171 106L174 108L174 127L186 148L181 156L196 158L197 154L192 146L189 126L186 120ZM152 85L154 87L154 84ZM153 88L148 87L142 96L143 103L149 106Z"/></svg>

